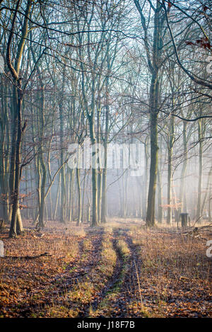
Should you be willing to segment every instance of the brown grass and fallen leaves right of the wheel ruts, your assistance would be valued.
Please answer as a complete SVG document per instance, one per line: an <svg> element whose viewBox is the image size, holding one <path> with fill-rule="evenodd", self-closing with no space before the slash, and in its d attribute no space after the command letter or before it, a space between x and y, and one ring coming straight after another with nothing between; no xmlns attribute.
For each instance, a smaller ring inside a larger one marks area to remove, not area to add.
<svg viewBox="0 0 212 332"><path fill-rule="evenodd" d="M153 317L211 316L211 260L206 257L206 241L163 234L161 229L131 235L141 258L141 290L132 312L144 304Z"/></svg>

